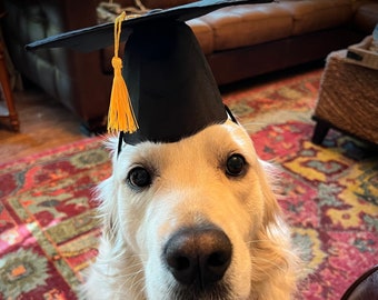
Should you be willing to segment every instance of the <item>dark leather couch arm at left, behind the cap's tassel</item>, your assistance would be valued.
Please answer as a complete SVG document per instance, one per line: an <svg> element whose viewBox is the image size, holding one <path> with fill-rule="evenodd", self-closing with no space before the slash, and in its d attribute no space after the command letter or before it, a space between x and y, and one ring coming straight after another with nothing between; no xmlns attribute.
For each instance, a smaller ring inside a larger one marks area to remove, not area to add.
<svg viewBox="0 0 378 300"><path fill-rule="evenodd" d="M67 49L28 52L24 46L56 33L94 26L99 1L2 1L6 41L17 70L83 121L103 118L109 102L111 78L102 73L100 52L78 53Z"/></svg>

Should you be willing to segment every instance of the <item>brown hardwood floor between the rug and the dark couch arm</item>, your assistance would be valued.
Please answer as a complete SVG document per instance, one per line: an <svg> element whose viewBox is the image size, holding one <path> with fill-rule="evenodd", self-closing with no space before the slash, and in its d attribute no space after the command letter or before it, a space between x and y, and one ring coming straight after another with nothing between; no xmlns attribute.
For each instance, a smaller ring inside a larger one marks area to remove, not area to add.
<svg viewBox="0 0 378 300"><path fill-rule="evenodd" d="M79 119L41 90L29 87L14 91L13 97L20 132L1 120L0 164L88 138L80 131Z"/></svg>

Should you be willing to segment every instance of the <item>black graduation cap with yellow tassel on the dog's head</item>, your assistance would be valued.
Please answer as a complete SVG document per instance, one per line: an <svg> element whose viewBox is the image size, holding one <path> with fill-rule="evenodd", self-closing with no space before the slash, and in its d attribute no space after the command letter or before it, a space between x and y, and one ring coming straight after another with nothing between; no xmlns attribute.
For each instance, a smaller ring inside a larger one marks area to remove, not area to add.
<svg viewBox="0 0 378 300"><path fill-rule="evenodd" d="M86 52L115 42L108 129L120 131L129 144L175 142L228 119L202 50L185 22L222 7L262 2L271 0L203 0L133 19L121 14L115 24L58 34L27 49L62 47ZM122 62L118 50L125 40Z"/></svg>

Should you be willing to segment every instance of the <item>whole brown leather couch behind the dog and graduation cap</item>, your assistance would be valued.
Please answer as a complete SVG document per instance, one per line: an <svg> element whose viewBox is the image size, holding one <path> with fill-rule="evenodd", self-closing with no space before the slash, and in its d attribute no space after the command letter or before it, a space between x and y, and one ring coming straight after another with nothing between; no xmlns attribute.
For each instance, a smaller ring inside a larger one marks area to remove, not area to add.
<svg viewBox="0 0 378 300"><path fill-rule="evenodd" d="M48 36L96 24L99 0L2 2L2 29L19 72L77 113L90 131L101 130L112 80L112 50L83 54L23 48ZM190 0L142 0L151 9L186 2ZM217 82L226 84L325 59L370 34L377 22L378 0L281 0L220 9L189 24Z"/></svg>

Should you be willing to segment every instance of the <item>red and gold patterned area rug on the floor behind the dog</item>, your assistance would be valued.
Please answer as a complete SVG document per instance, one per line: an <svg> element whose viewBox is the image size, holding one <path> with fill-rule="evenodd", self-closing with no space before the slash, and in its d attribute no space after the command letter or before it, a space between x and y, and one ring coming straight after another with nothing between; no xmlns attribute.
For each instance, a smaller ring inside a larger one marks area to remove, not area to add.
<svg viewBox="0 0 378 300"><path fill-rule="evenodd" d="M339 299L378 263L378 154L330 131L310 142L320 71L225 93L262 159L281 167L280 203L308 260L299 299ZM110 174L101 139L0 166L0 299L78 299L97 254L93 187Z"/></svg>

